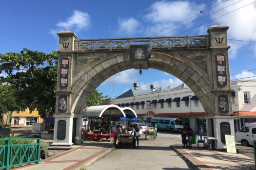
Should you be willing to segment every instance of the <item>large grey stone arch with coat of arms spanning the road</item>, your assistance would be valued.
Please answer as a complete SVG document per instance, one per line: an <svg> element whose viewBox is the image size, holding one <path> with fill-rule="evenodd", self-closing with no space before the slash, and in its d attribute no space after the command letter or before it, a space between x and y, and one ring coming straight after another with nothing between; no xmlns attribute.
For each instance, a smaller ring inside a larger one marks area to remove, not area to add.
<svg viewBox="0 0 256 170"><path fill-rule="evenodd" d="M67 126L64 140L57 138L55 130L53 145L72 145L72 138L81 134L79 119L91 93L107 78L131 68L154 68L176 76L201 102L207 135L220 139L221 122L228 122L230 135L234 135L228 28L214 25L206 35L116 39L77 39L74 32L59 32L54 117L55 127L59 120L65 120ZM217 146L222 147L222 142Z"/></svg>

